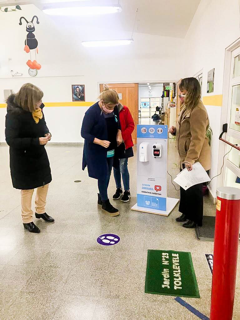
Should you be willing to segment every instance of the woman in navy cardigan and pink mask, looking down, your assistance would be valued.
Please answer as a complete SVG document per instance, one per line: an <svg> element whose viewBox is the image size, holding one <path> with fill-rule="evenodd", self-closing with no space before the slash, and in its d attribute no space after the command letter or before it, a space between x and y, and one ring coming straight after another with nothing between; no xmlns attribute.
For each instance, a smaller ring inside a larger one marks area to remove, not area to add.
<svg viewBox="0 0 240 320"><path fill-rule="evenodd" d="M108 184L113 167L115 149L122 143L117 104L118 94L104 85L100 101L85 113L81 136L84 140L83 170L98 180L98 204L110 216L119 215L108 199Z"/></svg>

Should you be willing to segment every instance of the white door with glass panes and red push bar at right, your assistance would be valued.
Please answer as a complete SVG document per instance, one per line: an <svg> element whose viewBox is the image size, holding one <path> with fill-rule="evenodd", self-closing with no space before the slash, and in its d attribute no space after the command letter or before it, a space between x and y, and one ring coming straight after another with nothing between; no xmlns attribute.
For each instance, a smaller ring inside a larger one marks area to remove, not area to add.
<svg viewBox="0 0 240 320"><path fill-rule="evenodd" d="M232 51L226 140L240 146L240 47ZM227 152L229 154L224 163L224 185L240 188L240 151L226 144L225 154Z"/></svg>

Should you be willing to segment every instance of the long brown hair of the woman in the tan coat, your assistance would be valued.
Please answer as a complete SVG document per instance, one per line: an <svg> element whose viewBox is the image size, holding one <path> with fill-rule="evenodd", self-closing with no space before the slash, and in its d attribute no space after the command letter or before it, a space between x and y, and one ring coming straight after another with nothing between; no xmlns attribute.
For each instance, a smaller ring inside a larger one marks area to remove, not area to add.
<svg viewBox="0 0 240 320"><path fill-rule="evenodd" d="M201 87L196 78L184 78L179 84L179 89L186 90L184 107L187 111L192 111L201 100Z"/></svg>

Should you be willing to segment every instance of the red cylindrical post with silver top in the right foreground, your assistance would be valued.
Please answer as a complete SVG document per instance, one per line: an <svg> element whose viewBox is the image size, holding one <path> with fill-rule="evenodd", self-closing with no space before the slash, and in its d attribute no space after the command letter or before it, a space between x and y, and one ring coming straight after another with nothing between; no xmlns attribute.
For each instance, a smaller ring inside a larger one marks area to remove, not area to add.
<svg viewBox="0 0 240 320"><path fill-rule="evenodd" d="M210 320L232 320L240 227L240 189L217 190Z"/></svg>

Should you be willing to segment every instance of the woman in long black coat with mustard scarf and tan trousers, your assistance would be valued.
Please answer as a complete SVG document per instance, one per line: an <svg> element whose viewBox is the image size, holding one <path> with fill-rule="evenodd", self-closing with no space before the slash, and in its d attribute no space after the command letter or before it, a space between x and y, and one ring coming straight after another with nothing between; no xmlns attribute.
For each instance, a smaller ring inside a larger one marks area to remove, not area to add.
<svg viewBox="0 0 240 320"><path fill-rule="evenodd" d="M52 181L45 145L51 140L42 109L43 92L33 84L24 84L7 99L6 142L10 146L10 170L13 188L21 190L23 226L39 233L31 210L34 189L37 219L53 222L45 212L48 185Z"/></svg>

